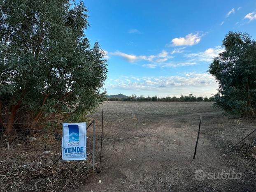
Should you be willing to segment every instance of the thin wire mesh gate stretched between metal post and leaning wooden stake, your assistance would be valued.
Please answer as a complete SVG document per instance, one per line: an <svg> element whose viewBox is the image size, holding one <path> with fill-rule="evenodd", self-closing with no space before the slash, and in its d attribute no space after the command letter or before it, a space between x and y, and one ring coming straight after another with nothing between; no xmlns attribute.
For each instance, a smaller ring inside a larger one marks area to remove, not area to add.
<svg viewBox="0 0 256 192"><path fill-rule="evenodd" d="M198 121L199 124L199 121ZM104 132L104 129L103 129ZM192 160L198 134L197 129L177 129L158 126L140 131L125 131L122 127L115 129L111 135L104 132L102 147L102 164L123 164L125 162ZM202 137L202 136L201 136ZM100 138L97 140L100 145ZM197 157L204 157L203 148L211 150L212 146L204 138L199 139ZM104 163L105 162L105 163Z"/></svg>

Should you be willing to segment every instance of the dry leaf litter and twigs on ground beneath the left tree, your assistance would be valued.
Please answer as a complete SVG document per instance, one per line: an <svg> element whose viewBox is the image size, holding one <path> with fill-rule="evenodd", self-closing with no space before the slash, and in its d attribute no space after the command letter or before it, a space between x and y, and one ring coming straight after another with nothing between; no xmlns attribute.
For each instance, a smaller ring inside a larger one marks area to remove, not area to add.
<svg viewBox="0 0 256 192"><path fill-rule="evenodd" d="M33 137L16 137L9 150L5 138L1 138L2 191L70 191L88 178L92 172L90 162L58 160L61 139L55 139L54 132L40 132Z"/></svg>

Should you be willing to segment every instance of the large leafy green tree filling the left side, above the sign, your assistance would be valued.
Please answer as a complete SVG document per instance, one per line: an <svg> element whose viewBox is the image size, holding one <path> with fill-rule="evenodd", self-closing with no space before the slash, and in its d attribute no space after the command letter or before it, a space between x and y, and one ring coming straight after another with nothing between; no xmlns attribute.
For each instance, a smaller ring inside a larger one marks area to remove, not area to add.
<svg viewBox="0 0 256 192"><path fill-rule="evenodd" d="M0 122L82 114L104 101L107 64L84 35L86 12L68 0L0 2Z"/></svg>

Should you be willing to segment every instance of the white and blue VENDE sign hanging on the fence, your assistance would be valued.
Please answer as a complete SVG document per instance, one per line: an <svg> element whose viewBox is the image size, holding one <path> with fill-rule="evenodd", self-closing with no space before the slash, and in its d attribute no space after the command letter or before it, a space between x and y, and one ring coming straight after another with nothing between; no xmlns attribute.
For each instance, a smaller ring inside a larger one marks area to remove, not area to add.
<svg viewBox="0 0 256 192"><path fill-rule="evenodd" d="M86 123L63 123L62 160L86 160Z"/></svg>

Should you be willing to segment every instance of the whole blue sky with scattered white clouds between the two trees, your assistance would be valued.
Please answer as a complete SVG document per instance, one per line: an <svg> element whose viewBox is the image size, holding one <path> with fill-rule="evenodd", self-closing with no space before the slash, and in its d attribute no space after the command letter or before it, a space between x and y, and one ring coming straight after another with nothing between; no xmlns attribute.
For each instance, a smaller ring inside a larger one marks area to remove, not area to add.
<svg viewBox="0 0 256 192"><path fill-rule="evenodd" d="M108 60L108 95L210 97L229 31L256 38L256 0L84 0L91 44Z"/></svg>

